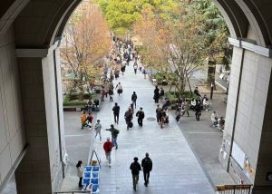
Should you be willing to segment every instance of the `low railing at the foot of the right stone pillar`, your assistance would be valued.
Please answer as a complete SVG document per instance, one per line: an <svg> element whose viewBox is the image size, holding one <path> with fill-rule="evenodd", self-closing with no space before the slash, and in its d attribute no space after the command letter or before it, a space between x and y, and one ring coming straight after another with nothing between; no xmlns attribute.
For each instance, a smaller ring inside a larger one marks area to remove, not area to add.
<svg viewBox="0 0 272 194"><path fill-rule="evenodd" d="M251 185L218 185L219 194L250 194Z"/></svg>

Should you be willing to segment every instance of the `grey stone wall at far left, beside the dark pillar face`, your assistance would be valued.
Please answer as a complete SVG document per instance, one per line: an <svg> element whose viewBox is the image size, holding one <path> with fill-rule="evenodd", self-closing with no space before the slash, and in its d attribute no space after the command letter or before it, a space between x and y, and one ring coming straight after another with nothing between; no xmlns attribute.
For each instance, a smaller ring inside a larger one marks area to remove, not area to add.
<svg viewBox="0 0 272 194"><path fill-rule="evenodd" d="M24 149L24 117L14 30L0 37L0 185Z"/></svg>

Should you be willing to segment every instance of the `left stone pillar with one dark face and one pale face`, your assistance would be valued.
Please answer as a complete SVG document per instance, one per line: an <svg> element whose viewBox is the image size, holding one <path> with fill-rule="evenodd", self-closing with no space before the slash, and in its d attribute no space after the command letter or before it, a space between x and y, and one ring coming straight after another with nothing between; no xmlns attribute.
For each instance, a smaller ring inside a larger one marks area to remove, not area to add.
<svg viewBox="0 0 272 194"><path fill-rule="evenodd" d="M28 143L15 171L17 193L48 194L60 188L64 174L58 48L54 44L49 49L17 49L16 53Z"/></svg>

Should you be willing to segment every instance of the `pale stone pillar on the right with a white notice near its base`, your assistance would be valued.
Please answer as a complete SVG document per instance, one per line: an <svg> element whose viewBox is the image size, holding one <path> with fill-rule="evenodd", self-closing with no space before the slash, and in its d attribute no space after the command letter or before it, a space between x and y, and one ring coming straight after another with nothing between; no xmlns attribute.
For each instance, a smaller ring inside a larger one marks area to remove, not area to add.
<svg viewBox="0 0 272 194"><path fill-rule="evenodd" d="M271 50L241 40L234 45L226 124L219 160L252 193L271 193L272 59Z"/></svg>

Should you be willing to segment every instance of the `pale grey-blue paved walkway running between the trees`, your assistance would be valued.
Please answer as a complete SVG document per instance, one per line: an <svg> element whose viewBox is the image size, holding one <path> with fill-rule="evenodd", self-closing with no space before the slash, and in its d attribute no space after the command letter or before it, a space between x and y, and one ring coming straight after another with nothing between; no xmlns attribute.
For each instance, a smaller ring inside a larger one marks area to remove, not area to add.
<svg viewBox="0 0 272 194"><path fill-rule="evenodd" d="M125 75L121 76L117 82L121 82L123 93L121 96L115 94L113 98L113 102L121 105L121 114L120 124L116 125L116 128L120 130L119 149L112 150L111 168L105 160L102 144L98 140L94 142L94 147L102 158L101 193L134 193L129 167L133 157L137 156L141 160L145 152L150 153L153 170L148 188L143 185L141 173L138 193L214 193L174 118L170 115L170 125L162 130L155 120L147 120L148 118L155 119L156 104L152 99L154 87L151 82L143 79L141 73L135 75L131 64L126 68ZM137 110L142 106L146 116L142 129L138 127L134 117L134 127L126 131L123 115L131 103L133 91L138 94ZM113 103L106 99L97 115L97 118L102 121L103 129L109 128L113 123L112 106ZM103 141L107 137L110 137L110 132L102 131Z"/></svg>

